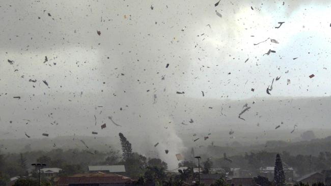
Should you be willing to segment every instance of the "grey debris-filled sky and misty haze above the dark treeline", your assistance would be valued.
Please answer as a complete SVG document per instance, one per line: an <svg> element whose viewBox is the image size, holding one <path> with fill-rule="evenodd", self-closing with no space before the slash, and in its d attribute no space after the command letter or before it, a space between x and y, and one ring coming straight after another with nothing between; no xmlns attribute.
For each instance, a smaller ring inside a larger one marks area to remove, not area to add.
<svg viewBox="0 0 331 186"><path fill-rule="evenodd" d="M123 133L175 169L193 147L329 136L331 3L215 3L0 2L0 151Z"/></svg>

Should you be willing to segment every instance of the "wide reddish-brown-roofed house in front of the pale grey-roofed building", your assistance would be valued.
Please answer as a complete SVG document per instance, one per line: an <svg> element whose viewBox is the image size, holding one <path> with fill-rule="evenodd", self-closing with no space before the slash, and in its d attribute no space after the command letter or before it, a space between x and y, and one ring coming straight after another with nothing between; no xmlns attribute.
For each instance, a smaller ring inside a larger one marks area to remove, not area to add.
<svg viewBox="0 0 331 186"><path fill-rule="evenodd" d="M119 174L95 172L59 177L55 182L57 186L133 186L136 180Z"/></svg>

